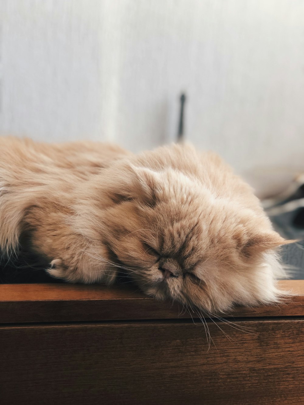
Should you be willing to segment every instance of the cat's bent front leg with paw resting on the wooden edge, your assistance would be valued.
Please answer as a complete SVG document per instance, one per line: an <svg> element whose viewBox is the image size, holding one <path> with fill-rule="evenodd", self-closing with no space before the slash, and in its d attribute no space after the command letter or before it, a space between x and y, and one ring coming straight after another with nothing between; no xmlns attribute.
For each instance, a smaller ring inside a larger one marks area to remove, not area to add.
<svg viewBox="0 0 304 405"><path fill-rule="evenodd" d="M22 223L26 243L47 258L50 264L46 271L53 277L71 283L110 284L117 268L100 235L86 226L92 215L79 224L79 212L72 208L73 196L68 197L41 197L25 210Z"/></svg>

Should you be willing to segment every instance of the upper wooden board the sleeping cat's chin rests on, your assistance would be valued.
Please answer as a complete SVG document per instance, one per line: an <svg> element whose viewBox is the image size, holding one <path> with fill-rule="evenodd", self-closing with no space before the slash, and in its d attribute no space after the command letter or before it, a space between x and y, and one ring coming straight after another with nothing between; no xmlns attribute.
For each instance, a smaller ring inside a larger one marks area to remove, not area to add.
<svg viewBox="0 0 304 405"><path fill-rule="evenodd" d="M225 316L304 315L304 280L280 281L294 293L286 303L237 307ZM297 295L298 294L298 295ZM0 323L197 318L178 304L158 302L130 287L74 284L0 285Z"/></svg>

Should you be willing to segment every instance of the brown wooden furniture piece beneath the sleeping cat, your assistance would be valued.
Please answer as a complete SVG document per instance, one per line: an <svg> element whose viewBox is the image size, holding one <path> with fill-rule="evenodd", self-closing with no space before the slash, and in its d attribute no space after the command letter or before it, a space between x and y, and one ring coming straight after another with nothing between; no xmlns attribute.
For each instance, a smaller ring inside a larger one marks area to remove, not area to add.
<svg viewBox="0 0 304 405"><path fill-rule="evenodd" d="M281 283L287 303L207 318L210 347L196 313L131 288L2 284L0 402L303 404L304 280Z"/></svg>

